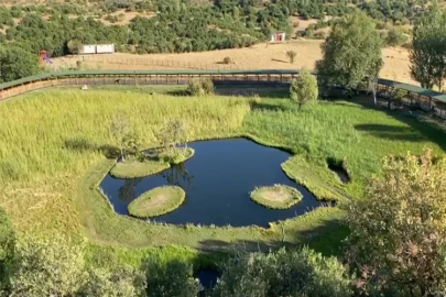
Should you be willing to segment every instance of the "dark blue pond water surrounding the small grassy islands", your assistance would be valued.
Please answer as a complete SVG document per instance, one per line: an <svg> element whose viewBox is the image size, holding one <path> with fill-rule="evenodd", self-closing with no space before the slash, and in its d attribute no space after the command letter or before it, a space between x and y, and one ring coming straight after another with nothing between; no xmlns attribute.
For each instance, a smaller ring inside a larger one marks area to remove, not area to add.
<svg viewBox="0 0 446 297"><path fill-rule="evenodd" d="M152 218L156 222L203 226L260 226L303 215L320 205L304 187L291 180L281 164L291 155L247 139L189 143L195 155L183 164L143 178L117 179L108 175L100 187L115 211L128 215L128 205L154 187L176 185L186 191L185 202L173 212ZM283 184L303 195L297 205L273 210L259 206L249 193L255 187Z"/></svg>

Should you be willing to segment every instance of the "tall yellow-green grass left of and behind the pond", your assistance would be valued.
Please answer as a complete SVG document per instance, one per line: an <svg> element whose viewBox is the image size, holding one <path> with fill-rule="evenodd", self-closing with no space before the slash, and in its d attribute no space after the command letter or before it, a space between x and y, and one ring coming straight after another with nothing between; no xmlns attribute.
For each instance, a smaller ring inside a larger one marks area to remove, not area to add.
<svg viewBox="0 0 446 297"><path fill-rule="evenodd" d="M237 131L249 102L141 90L50 89L0 105L0 206L20 231L79 233L76 191L83 175L117 145L110 122L126 114L144 145L172 119L191 140Z"/></svg>

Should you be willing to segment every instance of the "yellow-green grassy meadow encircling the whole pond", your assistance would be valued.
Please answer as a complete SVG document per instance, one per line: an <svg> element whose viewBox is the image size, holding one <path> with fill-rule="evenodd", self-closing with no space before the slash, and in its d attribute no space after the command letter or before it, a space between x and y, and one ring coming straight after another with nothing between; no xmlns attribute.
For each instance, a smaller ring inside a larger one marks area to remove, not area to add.
<svg viewBox="0 0 446 297"><path fill-rule="evenodd" d="M124 113L145 147L156 145L156 131L174 119L187 123L189 140L244 135L285 147L294 153L282 165L286 174L318 198L340 205L363 196L384 155L446 148L440 128L403 112L348 101L322 101L298 111L286 96L280 97L192 98L166 88L101 87L47 89L11 99L0 103L0 206L19 232L87 237L93 262L95 253L104 253L133 263L164 245L193 256L194 249L307 243L331 254L347 232L339 207L273 222L270 229L175 227L116 215L96 188L116 163L106 157L118 145L109 131L112 118ZM327 158L346 161L350 184L328 169Z"/></svg>

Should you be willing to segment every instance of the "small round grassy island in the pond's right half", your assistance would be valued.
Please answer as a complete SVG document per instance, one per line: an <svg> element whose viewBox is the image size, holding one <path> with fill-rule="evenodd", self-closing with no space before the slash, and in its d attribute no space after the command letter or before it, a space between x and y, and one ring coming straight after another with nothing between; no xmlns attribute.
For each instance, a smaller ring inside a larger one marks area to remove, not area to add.
<svg viewBox="0 0 446 297"><path fill-rule="evenodd" d="M254 202L271 209L291 208L303 198L297 189L285 185L255 188L250 196Z"/></svg>

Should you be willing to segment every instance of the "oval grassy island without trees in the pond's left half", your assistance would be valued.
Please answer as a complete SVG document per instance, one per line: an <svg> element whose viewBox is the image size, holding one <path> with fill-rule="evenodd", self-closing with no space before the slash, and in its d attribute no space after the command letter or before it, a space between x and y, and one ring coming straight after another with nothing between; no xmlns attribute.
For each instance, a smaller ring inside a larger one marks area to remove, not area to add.
<svg viewBox="0 0 446 297"><path fill-rule="evenodd" d="M157 187L134 199L128 210L133 217L149 219L177 209L185 198L186 193L181 187Z"/></svg>

